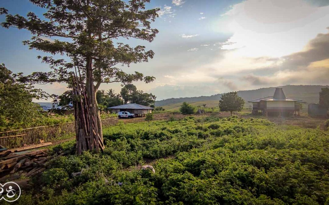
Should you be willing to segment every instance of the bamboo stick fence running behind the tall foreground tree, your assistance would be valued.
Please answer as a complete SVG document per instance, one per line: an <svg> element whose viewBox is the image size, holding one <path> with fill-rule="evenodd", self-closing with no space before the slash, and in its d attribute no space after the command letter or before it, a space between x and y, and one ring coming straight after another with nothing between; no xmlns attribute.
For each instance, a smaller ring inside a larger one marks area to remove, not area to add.
<svg viewBox="0 0 329 205"><path fill-rule="evenodd" d="M102 127L115 125L118 118L102 120ZM20 130L0 132L0 145L8 149L22 147L29 144L38 144L41 141L47 142L67 134L75 133L75 122L67 122L57 125L33 127Z"/></svg>

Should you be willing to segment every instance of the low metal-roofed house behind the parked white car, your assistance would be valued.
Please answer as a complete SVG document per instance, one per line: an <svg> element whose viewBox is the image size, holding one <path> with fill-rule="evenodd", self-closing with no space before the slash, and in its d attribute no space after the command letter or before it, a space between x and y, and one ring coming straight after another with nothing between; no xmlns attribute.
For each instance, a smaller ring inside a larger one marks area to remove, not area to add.
<svg viewBox="0 0 329 205"><path fill-rule="evenodd" d="M139 105L136 103L129 103L129 104L124 104L124 105L118 105L114 107L109 107L108 109L111 109L113 112L118 113L121 111L126 111L129 113L134 113L135 116L145 116L147 113L152 113L152 110L154 108L145 106L145 105Z"/></svg>

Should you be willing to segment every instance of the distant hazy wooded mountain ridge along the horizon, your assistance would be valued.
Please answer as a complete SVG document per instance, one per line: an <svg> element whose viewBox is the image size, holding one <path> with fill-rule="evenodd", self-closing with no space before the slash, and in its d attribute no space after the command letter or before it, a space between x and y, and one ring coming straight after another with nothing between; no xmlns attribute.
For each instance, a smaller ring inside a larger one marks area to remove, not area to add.
<svg viewBox="0 0 329 205"><path fill-rule="evenodd" d="M321 88L329 88L329 85L285 85L279 87L260 88L257 90L238 91L238 95L242 97L246 102L249 100L257 99L260 97L273 96L275 88L283 88L283 92L286 97L300 99L308 103L318 103L319 92ZM215 94L211 96L199 96L199 97L180 97L169 98L165 100L159 100L155 102L155 106L164 106L181 102L198 102L207 100L220 100L223 93Z"/></svg>

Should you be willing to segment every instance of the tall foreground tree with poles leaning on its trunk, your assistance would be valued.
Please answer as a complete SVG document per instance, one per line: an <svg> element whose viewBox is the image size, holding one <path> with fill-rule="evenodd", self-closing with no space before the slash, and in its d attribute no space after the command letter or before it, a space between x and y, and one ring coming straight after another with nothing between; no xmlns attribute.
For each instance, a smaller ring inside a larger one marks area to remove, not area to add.
<svg viewBox="0 0 329 205"><path fill-rule="evenodd" d="M8 14L1 25L30 31L34 36L23 44L52 56L38 56L49 65L50 72L34 72L23 79L31 83L67 83L72 87L76 73L85 86L90 115L96 119L95 130L103 139L96 93L101 83L131 84L134 81L152 82L155 78L140 72L126 73L118 66L147 62L153 51L144 46L130 47L122 39L137 38L153 41L158 30L151 22L159 9L145 10L150 0L30 0L46 9L42 18L29 12L26 17ZM44 20L45 19L45 20ZM51 38L50 40L48 40ZM65 55L55 59L54 55ZM77 70L77 72L75 71ZM95 83L94 83L95 82ZM92 126L89 126L92 127ZM92 132L91 132L92 135Z"/></svg>

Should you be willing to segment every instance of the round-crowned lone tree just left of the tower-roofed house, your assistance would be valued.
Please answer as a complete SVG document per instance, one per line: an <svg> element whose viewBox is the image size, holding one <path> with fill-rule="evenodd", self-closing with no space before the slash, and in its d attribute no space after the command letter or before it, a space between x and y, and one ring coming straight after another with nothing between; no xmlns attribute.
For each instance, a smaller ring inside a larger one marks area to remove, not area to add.
<svg viewBox="0 0 329 205"><path fill-rule="evenodd" d="M241 111L243 109L244 100L238 96L237 92L224 93L219 100L220 111L229 111L232 116L232 112Z"/></svg>

